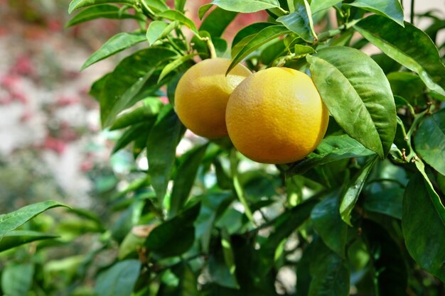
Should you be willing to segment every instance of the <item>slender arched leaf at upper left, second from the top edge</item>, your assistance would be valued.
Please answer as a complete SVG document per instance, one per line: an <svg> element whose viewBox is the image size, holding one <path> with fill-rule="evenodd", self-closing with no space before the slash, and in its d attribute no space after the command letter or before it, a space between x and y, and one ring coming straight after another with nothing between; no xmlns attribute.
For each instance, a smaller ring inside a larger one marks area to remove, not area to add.
<svg viewBox="0 0 445 296"><path fill-rule="evenodd" d="M97 5L89 7L76 16L70 19L66 23L65 27L75 26L78 23L85 23L85 21L91 21L97 18L112 18L112 19L123 19L123 18L134 18L144 21L144 19L126 12L122 12L119 7L114 5Z"/></svg>

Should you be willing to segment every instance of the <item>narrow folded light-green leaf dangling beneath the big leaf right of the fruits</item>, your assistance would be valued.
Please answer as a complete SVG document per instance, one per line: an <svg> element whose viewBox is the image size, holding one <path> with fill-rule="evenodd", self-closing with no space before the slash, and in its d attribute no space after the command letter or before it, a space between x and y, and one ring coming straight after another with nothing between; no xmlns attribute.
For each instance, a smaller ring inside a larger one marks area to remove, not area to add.
<svg viewBox="0 0 445 296"><path fill-rule="evenodd" d="M366 178L368 177L372 167L375 165L377 157L372 157L368 160L363 168L357 175L351 180L343 193L343 198L340 204L341 219L348 225L353 226L350 223L350 213L353 212L355 203L357 202L360 192L362 192L363 185L365 185Z"/></svg>

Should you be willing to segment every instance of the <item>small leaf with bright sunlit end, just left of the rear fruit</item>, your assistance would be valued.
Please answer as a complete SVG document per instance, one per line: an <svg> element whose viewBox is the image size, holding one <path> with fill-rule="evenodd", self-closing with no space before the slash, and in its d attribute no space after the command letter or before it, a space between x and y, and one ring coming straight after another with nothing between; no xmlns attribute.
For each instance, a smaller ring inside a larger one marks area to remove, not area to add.
<svg viewBox="0 0 445 296"><path fill-rule="evenodd" d="M163 106L163 104L158 98L145 99L142 106L117 117L109 129L110 131L114 131L132 126L133 124L140 124L142 121L148 121L159 113L161 106Z"/></svg>

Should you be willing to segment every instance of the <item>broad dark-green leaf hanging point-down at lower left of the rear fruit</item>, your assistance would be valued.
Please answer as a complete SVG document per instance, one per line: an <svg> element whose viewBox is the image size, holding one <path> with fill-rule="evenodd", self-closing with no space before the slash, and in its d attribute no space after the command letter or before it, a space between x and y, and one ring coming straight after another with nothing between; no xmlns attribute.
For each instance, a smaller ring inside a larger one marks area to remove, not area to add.
<svg viewBox="0 0 445 296"><path fill-rule="evenodd" d="M159 201L166 194L171 170L175 162L176 146L186 128L179 121L173 107L166 105L161 109L156 124L147 140L149 175Z"/></svg>

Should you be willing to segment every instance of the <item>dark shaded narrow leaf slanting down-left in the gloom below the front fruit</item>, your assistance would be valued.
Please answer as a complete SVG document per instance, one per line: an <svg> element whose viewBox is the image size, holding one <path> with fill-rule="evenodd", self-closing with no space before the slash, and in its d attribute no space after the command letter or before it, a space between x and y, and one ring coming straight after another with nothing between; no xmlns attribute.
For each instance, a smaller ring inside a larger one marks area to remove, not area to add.
<svg viewBox="0 0 445 296"><path fill-rule="evenodd" d="M259 270L258 272L261 275L266 275L273 267L274 255L279 243L291 235L291 233L303 224L306 219L309 219L311 211L317 202L318 201L311 199L299 204L279 215L277 219L274 220L274 229L271 234L269 234L267 241L264 241L259 248L257 270Z"/></svg>

